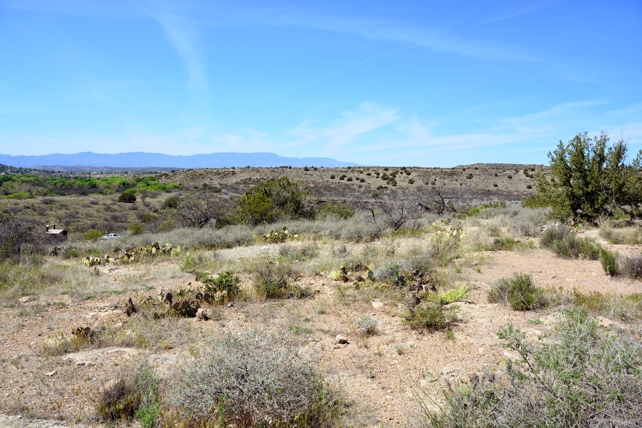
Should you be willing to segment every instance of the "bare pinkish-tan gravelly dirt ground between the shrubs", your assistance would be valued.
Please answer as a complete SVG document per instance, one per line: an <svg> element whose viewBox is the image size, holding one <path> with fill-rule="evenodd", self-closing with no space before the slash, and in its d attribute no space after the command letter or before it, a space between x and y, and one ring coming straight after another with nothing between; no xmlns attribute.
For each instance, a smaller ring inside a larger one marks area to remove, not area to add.
<svg viewBox="0 0 642 428"><path fill-rule="evenodd" d="M591 232L588 233L591 235ZM594 234L593 234L594 235ZM609 245L620 253L634 253L641 245ZM482 260L478 262L476 260ZM168 264L171 262L164 262ZM516 312L489 303L487 291L499 278L514 272L530 273L538 285L564 290L577 288L583 293L630 294L642 292L640 281L612 279L602 271L599 261L565 260L550 251L533 249L517 252L473 254L460 261L471 290L465 302L457 303L460 321L454 337L444 332L427 334L412 330L401 320L404 307L385 296L374 298L367 290L356 291L331 280L329 272L307 277L302 283L316 290L304 300L256 301L223 307L219 321L189 322L202 337L221 337L248 330L290 329L299 344L299 353L315 362L349 405L350 423L358 426L412 426L417 411L410 384L433 391L435 408L440 400L437 389L445 380L456 379L484 368L501 370L505 359L514 357L496 337L499 326L513 323L530 337L545 334L552 317L546 312ZM0 413L17 415L0 418L0 426L26 424L29 418L42 418L51 424L89 424L100 426L91 418L92 397L119 368L145 357L171 376L175 368L193 359L187 346L154 348L87 348L80 352L51 356L44 352L48 344L70 337L78 326L115 324L126 320L123 301L134 302L159 292L186 286L180 280L155 280L160 265L126 267L107 276L140 278L141 289L125 294L97 294L78 301L69 295L25 299L0 312ZM117 278L116 278L117 279ZM195 280L193 286L198 285ZM243 278L243 286L249 278ZM459 285L459 284L456 284ZM464 283L462 283L464 285ZM377 334L365 337L354 327L358 316L369 314L377 320ZM336 343L336 335L347 344ZM27 417L28 416L28 417ZM55 422L53 420L60 420ZM33 422L46 425L44 422ZM44 426L43 425L43 426ZM27 425L24 425L27 426Z"/></svg>

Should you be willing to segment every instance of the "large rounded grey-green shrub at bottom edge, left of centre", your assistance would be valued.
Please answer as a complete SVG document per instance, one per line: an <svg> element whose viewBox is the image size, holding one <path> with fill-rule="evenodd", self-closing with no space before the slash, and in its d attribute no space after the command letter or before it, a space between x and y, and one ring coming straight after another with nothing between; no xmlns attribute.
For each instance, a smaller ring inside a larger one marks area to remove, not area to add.
<svg viewBox="0 0 642 428"><path fill-rule="evenodd" d="M173 404L186 426L320 427L341 402L284 337L228 334L187 368Z"/></svg>

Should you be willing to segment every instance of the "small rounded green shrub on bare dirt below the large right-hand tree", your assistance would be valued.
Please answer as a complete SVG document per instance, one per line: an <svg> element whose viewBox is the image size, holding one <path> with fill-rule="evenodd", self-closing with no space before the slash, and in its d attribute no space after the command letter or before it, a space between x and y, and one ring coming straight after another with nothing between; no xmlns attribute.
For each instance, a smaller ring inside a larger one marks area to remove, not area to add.
<svg viewBox="0 0 642 428"><path fill-rule="evenodd" d="M501 278L488 292L488 301L503 303L512 310L532 310L548 305L544 290L537 287L528 274L514 274L513 278Z"/></svg>

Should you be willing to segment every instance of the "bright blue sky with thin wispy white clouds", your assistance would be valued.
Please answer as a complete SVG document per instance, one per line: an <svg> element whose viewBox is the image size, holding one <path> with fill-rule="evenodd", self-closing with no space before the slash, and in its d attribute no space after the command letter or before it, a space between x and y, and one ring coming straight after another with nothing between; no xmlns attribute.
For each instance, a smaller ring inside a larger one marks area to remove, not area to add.
<svg viewBox="0 0 642 428"><path fill-rule="evenodd" d="M0 0L0 153L642 148L642 2Z"/></svg>

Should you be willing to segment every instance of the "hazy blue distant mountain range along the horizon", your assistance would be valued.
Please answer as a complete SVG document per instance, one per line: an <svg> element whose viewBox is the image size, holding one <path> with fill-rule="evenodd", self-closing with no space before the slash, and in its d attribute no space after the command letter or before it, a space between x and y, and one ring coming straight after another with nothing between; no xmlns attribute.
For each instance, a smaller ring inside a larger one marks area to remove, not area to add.
<svg viewBox="0 0 642 428"><path fill-rule="evenodd" d="M357 163L340 162L329 157L282 157L273 153L210 153L190 156L171 156L162 153L129 152L100 154L82 152L76 154L48 154L40 156L11 156L0 154L0 163L22 168L42 170L75 171L78 168L124 168L153 170L155 168L225 168L235 166L275 167L275 166L363 166ZM66 165L66 166L65 166ZM73 166L69 166L73 165ZM91 166L93 165L93 167ZM87 169L89 168L89 169Z"/></svg>

